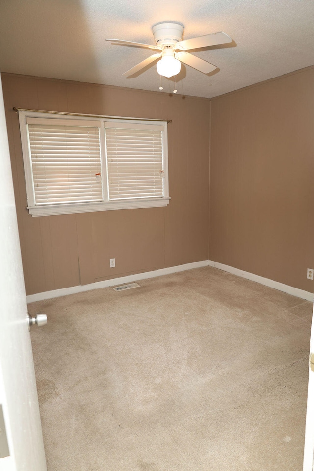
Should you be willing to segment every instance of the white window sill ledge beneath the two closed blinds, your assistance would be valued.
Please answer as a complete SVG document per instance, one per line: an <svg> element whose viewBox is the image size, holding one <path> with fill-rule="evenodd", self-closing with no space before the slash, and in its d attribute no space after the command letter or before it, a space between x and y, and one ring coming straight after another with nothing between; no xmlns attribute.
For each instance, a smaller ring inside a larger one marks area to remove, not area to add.
<svg viewBox="0 0 314 471"><path fill-rule="evenodd" d="M98 203L82 203L69 205L29 206L31 216L56 216L59 214L77 214L81 212L114 211L117 209L156 208L167 206L170 198L154 198L151 200L110 201Z"/></svg>

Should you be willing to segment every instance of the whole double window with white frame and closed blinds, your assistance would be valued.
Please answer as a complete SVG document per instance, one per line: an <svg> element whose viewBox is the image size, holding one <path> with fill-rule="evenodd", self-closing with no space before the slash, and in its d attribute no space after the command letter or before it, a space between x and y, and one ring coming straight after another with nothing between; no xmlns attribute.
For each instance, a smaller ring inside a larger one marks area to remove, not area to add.
<svg viewBox="0 0 314 471"><path fill-rule="evenodd" d="M19 110L32 216L166 206L167 122Z"/></svg>

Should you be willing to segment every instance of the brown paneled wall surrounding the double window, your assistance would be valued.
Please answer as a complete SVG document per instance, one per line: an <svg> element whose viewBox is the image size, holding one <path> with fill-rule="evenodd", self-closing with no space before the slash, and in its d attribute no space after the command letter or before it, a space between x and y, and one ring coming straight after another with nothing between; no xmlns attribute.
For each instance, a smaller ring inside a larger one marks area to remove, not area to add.
<svg viewBox="0 0 314 471"><path fill-rule="evenodd" d="M11 74L2 82L27 294L208 259L208 99ZM172 119L169 206L31 217L13 107Z"/></svg>

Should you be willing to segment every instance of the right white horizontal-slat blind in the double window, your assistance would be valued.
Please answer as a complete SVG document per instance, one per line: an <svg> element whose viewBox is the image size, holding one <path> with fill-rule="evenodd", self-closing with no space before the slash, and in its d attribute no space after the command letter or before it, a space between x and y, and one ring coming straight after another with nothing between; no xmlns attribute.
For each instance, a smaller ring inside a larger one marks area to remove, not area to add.
<svg viewBox="0 0 314 471"><path fill-rule="evenodd" d="M109 199L163 196L159 125L105 123Z"/></svg>

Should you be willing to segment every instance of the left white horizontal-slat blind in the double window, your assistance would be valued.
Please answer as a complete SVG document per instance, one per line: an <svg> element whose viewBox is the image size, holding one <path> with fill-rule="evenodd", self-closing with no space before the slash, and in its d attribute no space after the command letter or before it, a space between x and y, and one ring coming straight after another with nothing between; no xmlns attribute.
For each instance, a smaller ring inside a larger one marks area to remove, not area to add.
<svg viewBox="0 0 314 471"><path fill-rule="evenodd" d="M26 118L36 205L103 200L99 121Z"/></svg>

